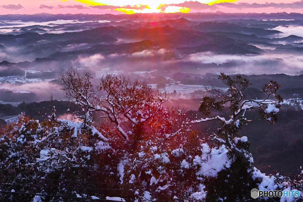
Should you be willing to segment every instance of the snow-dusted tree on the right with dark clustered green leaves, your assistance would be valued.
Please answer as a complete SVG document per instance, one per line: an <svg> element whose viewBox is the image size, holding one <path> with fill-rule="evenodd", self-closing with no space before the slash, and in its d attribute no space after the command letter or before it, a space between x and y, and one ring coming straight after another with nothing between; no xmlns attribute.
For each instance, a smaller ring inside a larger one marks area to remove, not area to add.
<svg viewBox="0 0 303 202"><path fill-rule="evenodd" d="M223 92L213 86L206 88L212 96L203 97L199 111L209 116L211 110L221 111L228 107L231 111L230 116L228 118L215 116L191 121L191 123L219 121L220 127L208 140L214 141L217 147L226 152L228 162L221 172L204 180L205 190L208 193L206 201L250 200L250 190L255 188L260 179L254 177L255 168L250 153L250 143L239 131L252 121L248 120L245 114L254 109L259 110L263 120L271 124L277 121L279 108L283 102L281 96L276 94L280 85L275 81L270 81L260 91L266 94L264 100L246 100L245 89L251 85L247 78L239 75L232 77L221 73L218 79L227 85L227 91Z"/></svg>

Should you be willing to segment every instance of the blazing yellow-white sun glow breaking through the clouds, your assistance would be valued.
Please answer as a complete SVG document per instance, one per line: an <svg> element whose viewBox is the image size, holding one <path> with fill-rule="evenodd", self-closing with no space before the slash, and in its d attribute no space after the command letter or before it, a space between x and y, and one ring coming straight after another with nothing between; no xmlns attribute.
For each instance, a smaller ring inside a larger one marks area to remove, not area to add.
<svg viewBox="0 0 303 202"><path fill-rule="evenodd" d="M178 6L168 6L165 11L161 11L159 8L160 5L165 4L178 4L183 3L185 0L154 0L154 1L146 1L146 0L128 0L122 1L122 0L75 0L77 2L85 3L88 5L113 5L113 6L125 6L125 5L131 5L131 6L137 6L140 5L147 5L147 8L144 9L126 9L126 8L116 8L115 11L124 12L126 14L133 14L133 13L175 13L175 12L183 12L187 13L191 11L190 8L185 7L178 7ZM205 3L205 4L213 4L213 3L220 3L220 2L234 2L236 0L200 0L198 2Z"/></svg>

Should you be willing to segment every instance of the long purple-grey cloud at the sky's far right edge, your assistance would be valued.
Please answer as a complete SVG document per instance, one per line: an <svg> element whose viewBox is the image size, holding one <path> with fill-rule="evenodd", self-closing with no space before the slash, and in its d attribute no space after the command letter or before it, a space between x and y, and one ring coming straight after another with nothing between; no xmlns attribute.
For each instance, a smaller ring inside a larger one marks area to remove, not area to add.
<svg viewBox="0 0 303 202"><path fill-rule="evenodd" d="M221 2L221 3L215 3L213 5L217 6L224 6L227 8L237 8L237 9L243 9L243 8L292 8L292 9L301 9L303 8L303 0L299 2L291 2L291 3L265 3L265 4L258 4L258 3L229 3L229 2Z"/></svg>

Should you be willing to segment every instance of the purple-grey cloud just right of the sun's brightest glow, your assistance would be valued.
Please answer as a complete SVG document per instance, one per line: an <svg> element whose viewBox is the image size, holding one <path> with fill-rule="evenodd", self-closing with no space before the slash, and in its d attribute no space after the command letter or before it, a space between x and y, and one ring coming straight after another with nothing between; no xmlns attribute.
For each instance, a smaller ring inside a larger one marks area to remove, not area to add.
<svg viewBox="0 0 303 202"><path fill-rule="evenodd" d="M165 8L167 8L168 6L178 6L178 7L185 7L185 8L190 8L190 9L194 9L196 11L201 11L201 10L205 10L205 9L211 9L211 10L216 10L218 7L215 5L208 5L208 4L203 4L200 2L193 2L193 1L185 1L183 3L179 3L179 4L164 4L158 7L158 9L161 9L161 11L165 11Z"/></svg>

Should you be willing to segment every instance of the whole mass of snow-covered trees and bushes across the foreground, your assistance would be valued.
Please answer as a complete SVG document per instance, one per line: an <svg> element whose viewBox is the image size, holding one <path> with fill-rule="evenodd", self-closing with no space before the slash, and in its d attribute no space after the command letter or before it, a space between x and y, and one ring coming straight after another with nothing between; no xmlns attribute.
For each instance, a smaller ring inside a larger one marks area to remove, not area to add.
<svg viewBox="0 0 303 202"><path fill-rule="evenodd" d="M74 200L48 196L52 193L138 202L245 201L257 186L300 188L285 187L278 175L261 174L253 166L247 137L239 133L250 121L248 110L258 108L262 119L277 121L282 98L276 82L261 90L268 100L247 101L243 91L249 81L221 74L228 91L208 88L214 96L205 96L199 111L208 116L229 107L231 116L192 120L185 110L163 107L168 98L144 81L106 75L94 87L89 72L74 69L61 79L77 106L68 110L73 121L56 118L54 108L41 123L20 115L18 123L1 129L0 189L43 195L16 198L4 192L5 200ZM208 139L192 129L215 120L221 127Z"/></svg>

